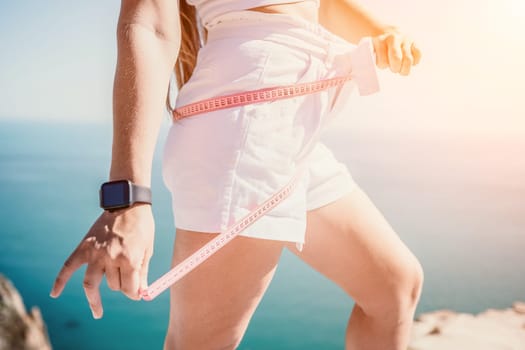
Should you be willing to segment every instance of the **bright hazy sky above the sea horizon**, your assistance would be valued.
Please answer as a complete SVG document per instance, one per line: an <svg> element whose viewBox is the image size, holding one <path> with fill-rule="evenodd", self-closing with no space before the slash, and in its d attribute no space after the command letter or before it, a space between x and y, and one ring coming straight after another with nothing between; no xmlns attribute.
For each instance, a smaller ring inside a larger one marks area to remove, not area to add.
<svg viewBox="0 0 525 350"><path fill-rule="evenodd" d="M423 58L409 77L381 71L381 93L354 95L341 127L525 133L525 1L361 4ZM0 121L110 121L119 6L0 0Z"/></svg>

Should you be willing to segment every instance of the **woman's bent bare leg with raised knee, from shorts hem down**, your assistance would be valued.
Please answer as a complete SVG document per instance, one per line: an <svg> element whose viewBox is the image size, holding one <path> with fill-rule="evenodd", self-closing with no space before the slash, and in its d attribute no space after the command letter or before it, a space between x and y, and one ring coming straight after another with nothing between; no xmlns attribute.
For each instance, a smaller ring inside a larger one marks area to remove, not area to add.
<svg viewBox="0 0 525 350"><path fill-rule="evenodd" d="M358 187L307 225L303 251L287 246L354 299L346 349L405 350L423 270L369 197Z"/></svg>

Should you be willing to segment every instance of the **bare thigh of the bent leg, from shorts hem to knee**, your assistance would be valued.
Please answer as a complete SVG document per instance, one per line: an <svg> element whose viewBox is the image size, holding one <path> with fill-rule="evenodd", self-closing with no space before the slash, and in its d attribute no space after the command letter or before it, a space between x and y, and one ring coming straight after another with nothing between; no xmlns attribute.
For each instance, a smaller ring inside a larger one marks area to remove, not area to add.
<svg viewBox="0 0 525 350"><path fill-rule="evenodd" d="M358 186L307 215L303 261L339 285L363 310L385 314L419 296L422 269L385 217ZM398 294L398 295L396 295Z"/></svg>

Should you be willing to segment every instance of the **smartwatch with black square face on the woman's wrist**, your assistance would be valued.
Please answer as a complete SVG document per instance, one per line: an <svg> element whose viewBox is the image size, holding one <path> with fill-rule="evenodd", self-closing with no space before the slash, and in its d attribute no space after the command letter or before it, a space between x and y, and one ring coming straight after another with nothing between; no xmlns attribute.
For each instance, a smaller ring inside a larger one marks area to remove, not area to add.
<svg viewBox="0 0 525 350"><path fill-rule="evenodd" d="M151 204L151 189L129 180L104 182L99 191L100 207L114 211L130 207L133 203Z"/></svg>

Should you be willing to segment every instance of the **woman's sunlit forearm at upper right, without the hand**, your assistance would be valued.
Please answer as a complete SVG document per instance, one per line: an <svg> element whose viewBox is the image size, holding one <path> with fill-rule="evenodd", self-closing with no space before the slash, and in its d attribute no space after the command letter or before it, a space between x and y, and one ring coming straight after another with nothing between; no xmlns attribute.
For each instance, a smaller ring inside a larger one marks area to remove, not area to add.
<svg viewBox="0 0 525 350"><path fill-rule="evenodd" d="M365 36L380 35L393 28L380 22L351 0L322 0L319 22L351 43L358 43Z"/></svg>

